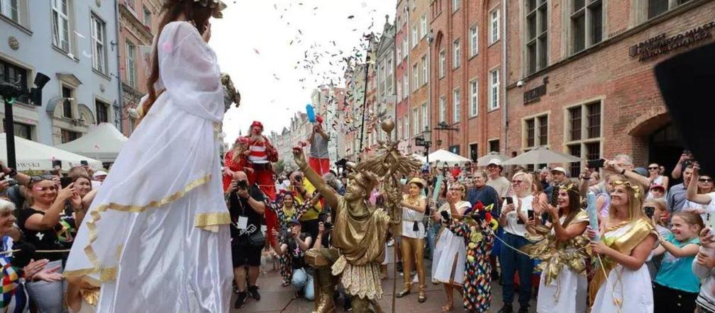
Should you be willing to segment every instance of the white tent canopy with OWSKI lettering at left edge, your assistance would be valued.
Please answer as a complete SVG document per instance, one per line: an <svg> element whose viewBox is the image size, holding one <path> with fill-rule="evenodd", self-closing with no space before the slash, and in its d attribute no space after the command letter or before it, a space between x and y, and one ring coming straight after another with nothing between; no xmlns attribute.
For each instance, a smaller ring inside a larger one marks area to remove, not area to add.
<svg viewBox="0 0 715 313"><path fill-rule="evenodd" d="M5 133L0 134L0 160L7 164L5 136ZM65 171L82 164L82 161L87 161L92 169L102 169L102 162L99 162L99 160L57 149L54 146L46 146L18 136L15 136L15 158L18 171L49 171L52 169L52 162L55 160L62 162L62 169Z"/></svg>

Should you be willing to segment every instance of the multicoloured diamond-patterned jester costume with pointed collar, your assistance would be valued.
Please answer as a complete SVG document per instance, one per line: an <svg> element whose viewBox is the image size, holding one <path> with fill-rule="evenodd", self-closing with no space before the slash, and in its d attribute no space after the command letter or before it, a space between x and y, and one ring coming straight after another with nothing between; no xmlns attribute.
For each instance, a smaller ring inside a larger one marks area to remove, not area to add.
<svg viewBox="0 0 715 313"><path fill-rule="evenodd" d="M481 204L479 202L478 204ZM488 212L491 209L475 205L473 216L485 219L492 224L495 219ZM465 312L488 312L491 303L491 263L489 252L494 241L493 229L483 229L473 217L465 217L464 221L453 219L448 225L450 231L464 239L467 247L467 257L464 262L464 310ZM491 227L491 225L490 225Z"/></svg>

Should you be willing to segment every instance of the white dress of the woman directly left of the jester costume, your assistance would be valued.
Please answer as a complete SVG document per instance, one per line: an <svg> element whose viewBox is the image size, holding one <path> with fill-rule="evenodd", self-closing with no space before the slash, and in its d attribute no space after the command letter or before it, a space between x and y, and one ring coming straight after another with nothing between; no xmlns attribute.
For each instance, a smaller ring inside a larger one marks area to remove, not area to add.
<svg viewBox="0 0 715 313"><path fill-rule="evenodd" d="M465 207L470 208L472 205L466 201L455 204L458 211L463 211ZM449 204L443 205L439 210L440 212L445 210L450 212ZM455 235L448 228L442 227L432 258L432 277L442 283L448 283L454 277L454 284L464 284L464 260L466 257L467 247L464 245L464 238ZM455 259L457 264L452 272Z"/></svg>

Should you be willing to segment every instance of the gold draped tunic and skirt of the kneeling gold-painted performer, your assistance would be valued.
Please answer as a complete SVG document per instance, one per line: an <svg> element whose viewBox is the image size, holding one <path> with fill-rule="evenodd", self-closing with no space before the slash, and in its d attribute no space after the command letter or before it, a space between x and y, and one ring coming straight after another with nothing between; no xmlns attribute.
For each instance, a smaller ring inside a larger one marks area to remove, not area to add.
<svg viewBox="0 0 715 313"><path fill-rule="evenodd" d="M368 207L368 214L358 215L337 198L332 245L340 257L332 264L332 274L340 275L348 293L368 299L380 299L380 263L385 257L385 239L390 217L383 209Z"/></svg>

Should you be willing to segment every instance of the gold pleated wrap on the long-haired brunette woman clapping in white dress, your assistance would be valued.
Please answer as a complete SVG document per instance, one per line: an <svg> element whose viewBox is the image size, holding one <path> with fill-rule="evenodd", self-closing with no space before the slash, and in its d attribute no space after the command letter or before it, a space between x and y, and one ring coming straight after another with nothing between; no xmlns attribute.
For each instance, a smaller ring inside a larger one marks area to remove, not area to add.
<svg viewBox="0 0 715 313"><path fill-rule="evenodd" d="M579 209L576 217L566 226L583 222L588 222L588 214L583 209ZM584 248L588 246L588 238L585 234L568 239L566 242L558 242L556 234L551 232L551 227L540 225L536 227L536 232L537 234L526 233L526 239L533 244L522 247L521 251L543 261L536 269L544 273L545 285L551 284L564 266L578 274L586 272L588 254Z"/></svg>

